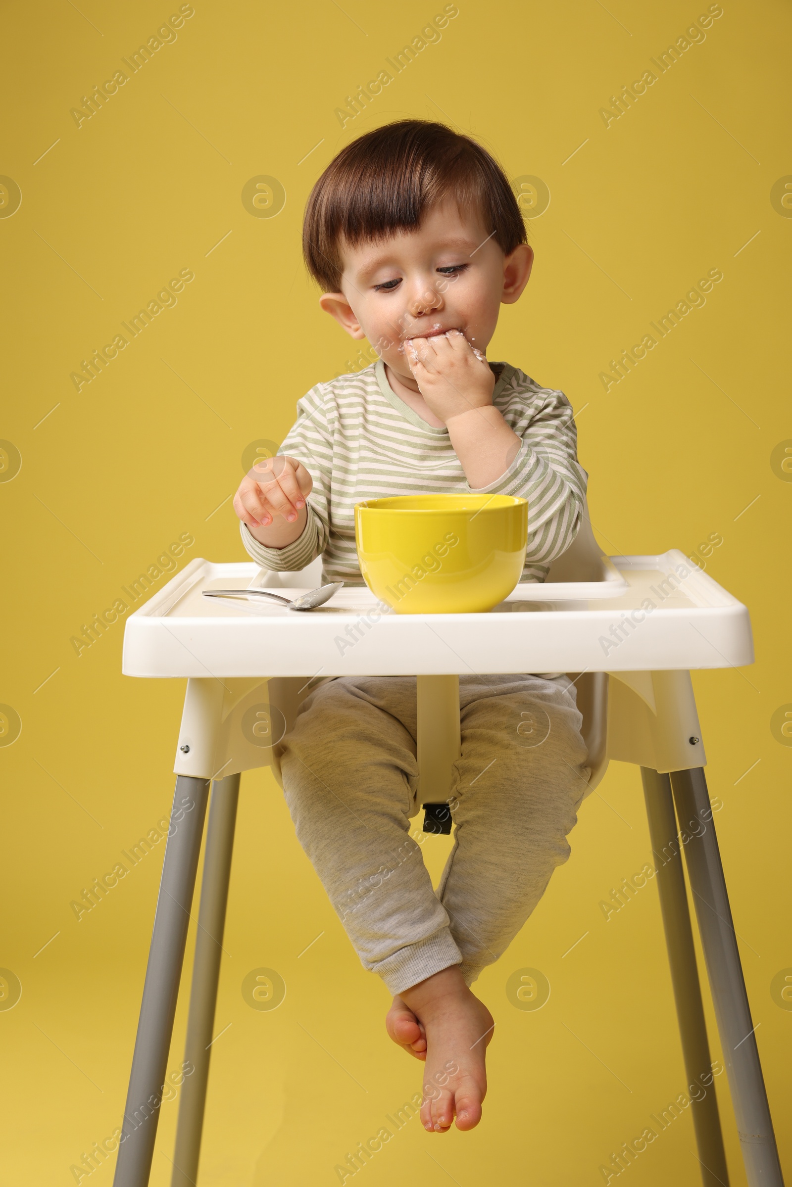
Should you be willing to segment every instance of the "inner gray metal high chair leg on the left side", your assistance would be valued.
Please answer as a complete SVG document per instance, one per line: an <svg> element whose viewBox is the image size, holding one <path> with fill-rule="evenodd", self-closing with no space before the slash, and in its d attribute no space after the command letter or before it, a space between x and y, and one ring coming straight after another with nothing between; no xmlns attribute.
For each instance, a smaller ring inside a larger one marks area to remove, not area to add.
<svg viewBox="0 0 792 1187"><path fill-rule="evenodd" d="M185 1079L182 1086L171 1187L195 1187L198 1181L201 1132L214 1037L211 1032L217 1002L239 783L239 775L229 775L216 782L211 792L201 883L198 934L192 965L190 1014L184 1047L184 1059L192 1064L195 1072L189 1079Z"/></svg>

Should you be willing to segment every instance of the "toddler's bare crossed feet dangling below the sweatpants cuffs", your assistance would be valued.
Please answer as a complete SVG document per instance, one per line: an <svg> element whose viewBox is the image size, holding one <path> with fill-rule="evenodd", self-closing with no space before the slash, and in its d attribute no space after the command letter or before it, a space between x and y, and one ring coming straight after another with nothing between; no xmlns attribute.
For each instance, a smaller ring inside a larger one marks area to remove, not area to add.
<svg viewBox="0 0 792 1187"><path fill-rule="evenodd" d="M400 1003L423 1024L426 1036L424 1128L444 1134L456 1113L457 1129L473 1129L481 1121L487 1094L484 1053L495 1026L492 1014L468 989L458 965L403 990ZM398 1024L406 1034L410 1020L403 1010Z"/></svg>

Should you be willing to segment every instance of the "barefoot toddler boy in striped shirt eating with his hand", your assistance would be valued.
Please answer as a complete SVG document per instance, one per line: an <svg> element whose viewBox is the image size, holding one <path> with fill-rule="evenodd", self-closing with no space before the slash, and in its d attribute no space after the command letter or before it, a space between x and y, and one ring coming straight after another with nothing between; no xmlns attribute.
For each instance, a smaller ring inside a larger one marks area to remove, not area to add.
<svg viewBox="0 0 792 1187"><path fill-rule="evenodd" d="M308 202L303 248L319 305L378 362L317 383L281 452L241 483L248 553L323 582L365 585L354 504L468 491L528 500L521 580L543 582L579 527L585 472L572 408L517 367L488 362L501 304L533 262L496 161L439 123L360 137ZM279 747L297 837L366 969L394 995L391 1037L425 1060L422 1122L481 1119L494 1028L470 990L566 861L589 769L563 674L460 677L455 842L437 890L408 837L419 811L414 677L335 677Z"/></svg>

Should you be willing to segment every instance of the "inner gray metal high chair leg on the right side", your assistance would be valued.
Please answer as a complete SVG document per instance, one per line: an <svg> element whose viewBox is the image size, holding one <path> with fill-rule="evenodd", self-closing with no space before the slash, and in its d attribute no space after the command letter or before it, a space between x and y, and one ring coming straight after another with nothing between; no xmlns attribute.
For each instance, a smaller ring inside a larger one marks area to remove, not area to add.
<svg viewBox="0 0 792 1187"><path fill-rule="evenodd" d="M677 840L677 818L673 811L671 780L667 775L659 775L657 770L650 770L647 767L641 767L641 779L657 865L655 881L669 948L682 1050L688 1084L692 1088L697 1083L701 1083L703 1074L711 1075L711 1055L696 966L696 948L690 926L685 875ZM701 1099L693 1099L691 1107L696 1144L704 1187L717 1187L718 1183L728 1187L729 1174L723 1150L721 1118L711 1083L710 1080L710 1087L702 1086L705 1096ZM701 1092L702 1088L698 1091Z"/></svg>

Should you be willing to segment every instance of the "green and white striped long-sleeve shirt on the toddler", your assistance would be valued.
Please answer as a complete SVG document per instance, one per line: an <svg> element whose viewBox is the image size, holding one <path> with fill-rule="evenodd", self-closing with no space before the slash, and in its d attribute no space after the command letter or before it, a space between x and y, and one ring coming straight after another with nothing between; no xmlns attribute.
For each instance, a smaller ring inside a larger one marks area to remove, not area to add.
<svg viewBox="0 0 792 1187"><path fill-rule="evenodd" d="M297 401L297 420L279 453L313 480L300 537L285 548L259 544L240 523L248 554L262 567L304 569L322 556L322 582L365 585L355 548L355 503L388 495L499 494L528 500L528 546L520 580L544 582L550 561L581 525L585 471L577 462L572 408L508 363L493 363L493 405L521 446L487 487L470 487L448 429L433 429L392 389L381 361L317 383Z"/></svg>

